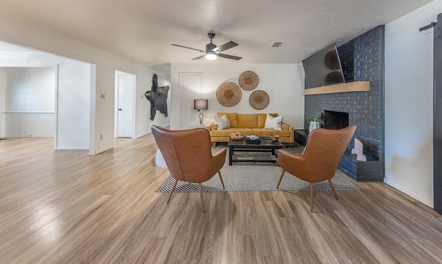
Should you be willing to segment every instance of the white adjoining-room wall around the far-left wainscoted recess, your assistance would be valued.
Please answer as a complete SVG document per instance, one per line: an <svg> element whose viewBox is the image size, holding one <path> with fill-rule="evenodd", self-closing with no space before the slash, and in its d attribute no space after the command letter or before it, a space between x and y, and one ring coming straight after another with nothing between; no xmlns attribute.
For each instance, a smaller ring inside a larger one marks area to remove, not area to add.
<svg viewBox="0 0 442 264"><path fill-rule="evenodd" d="M57 150L88 150L90 133L90 63L46 52L0 52L1 67L57 68L57 91L46 95L54 111L57 95ZM10 99L6 99L11 101ZM6 120L5 120L6 121ZM50 128L55 131L55 121ZM53 133L52 133L53 134Z"/></svg>

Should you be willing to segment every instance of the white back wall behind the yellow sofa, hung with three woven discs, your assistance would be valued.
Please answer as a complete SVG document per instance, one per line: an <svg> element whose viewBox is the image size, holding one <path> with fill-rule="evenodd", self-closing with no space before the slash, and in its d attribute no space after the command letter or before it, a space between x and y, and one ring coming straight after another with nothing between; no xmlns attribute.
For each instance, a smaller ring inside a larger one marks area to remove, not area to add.
<svg viewBox="0 0 442 264"><path fill-rule="evenodd" d="M180 73L198 72L203 74L202 99L209 100L209 109L204 110L204 124L213 121L217 112L270 113L277 112L284 115L284 122L294 125L296 130L304 129L304 71L301 64L249 64L249 63L204 63L204 64L180 64L173 63L171 66L171 128L182 129L180 116L190 115L195 119L195 127L199 125L198 112L189 110L188 113L180 113L181 93L195 91L180 91ZM263 110L255 110L249 104L249 96L255 91L242 90L242 97L237 105L225 107L216 99L216 90L224 81L232 81L238 84L240 74L251 70L258 75L259 84L255 90L263 90L269 94L269 105ZM199 93L199 91L198 91ZM195 99L199 99L195 98Z"/></svg>

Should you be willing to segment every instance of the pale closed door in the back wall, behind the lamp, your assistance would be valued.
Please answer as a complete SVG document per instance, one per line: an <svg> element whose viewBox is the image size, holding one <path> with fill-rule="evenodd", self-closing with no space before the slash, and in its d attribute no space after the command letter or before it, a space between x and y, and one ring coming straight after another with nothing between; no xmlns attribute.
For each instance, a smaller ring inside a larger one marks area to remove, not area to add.
<svg viewBox="0 0 442 264"><path fill-rule="evenodd" d="M200 125L199 112L193 109L193 100L201 99L202 77L202 73L180 73L181 129Z"/></svg>

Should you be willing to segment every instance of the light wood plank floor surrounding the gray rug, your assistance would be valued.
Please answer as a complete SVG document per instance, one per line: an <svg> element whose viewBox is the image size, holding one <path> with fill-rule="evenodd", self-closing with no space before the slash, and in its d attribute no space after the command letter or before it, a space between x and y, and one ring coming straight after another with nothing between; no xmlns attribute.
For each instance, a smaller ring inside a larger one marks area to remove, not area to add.
<svg viewBox="0 0 442 264"><path fill-rule="evenodd" d="M442 263L441 214L384 183L315 192L313 213L307 191L204 193L203 214L155 193L151 135L52 145L0 141L0 263Z"/></svg>

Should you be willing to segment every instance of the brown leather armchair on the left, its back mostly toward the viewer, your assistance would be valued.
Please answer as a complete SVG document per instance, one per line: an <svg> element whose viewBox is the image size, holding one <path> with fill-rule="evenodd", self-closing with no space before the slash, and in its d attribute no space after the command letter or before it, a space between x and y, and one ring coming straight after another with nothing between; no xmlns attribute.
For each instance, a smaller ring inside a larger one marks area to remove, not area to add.
<svg viewBox="0 0 442 264"><path fill-rule="evenodd" d="M153 125L152 134L171 176L175 179L167 203L171 200L178 181L198 183L201 211L204 212L201 183L211 179L218 172L224 188L220 170L226 161L227 150L223 148L212 155L210 134L204 128L168 130Z"/></svg>

